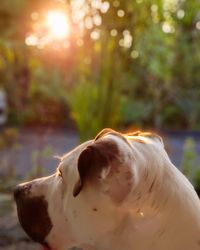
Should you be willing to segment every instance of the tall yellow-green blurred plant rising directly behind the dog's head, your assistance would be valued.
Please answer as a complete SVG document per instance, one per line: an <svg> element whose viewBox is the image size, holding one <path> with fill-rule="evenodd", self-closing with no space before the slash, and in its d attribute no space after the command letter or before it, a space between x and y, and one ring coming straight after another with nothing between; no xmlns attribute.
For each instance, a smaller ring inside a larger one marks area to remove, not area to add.
<svg viewBox="0 0 200 250"><path fill-rule="evenodd" d="M65 94L81 140L91 138L104 127L116 127L120 121L123 78L119 75L117 47L109 35L91 46L89 55L80 49L75 84L69 83Z"/></svg>

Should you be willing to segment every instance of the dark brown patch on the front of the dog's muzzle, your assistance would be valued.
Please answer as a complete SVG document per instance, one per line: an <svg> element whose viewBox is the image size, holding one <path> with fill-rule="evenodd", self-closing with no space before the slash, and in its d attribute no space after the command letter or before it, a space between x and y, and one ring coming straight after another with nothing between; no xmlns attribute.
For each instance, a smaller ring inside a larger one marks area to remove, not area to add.
<svg viewBox="0 0 200 250"><path fill-rule="evenodd" d="M30 197L30 183L19 185L14 189L19 222L28 236L41 244L52 228L48 214L48 203L44 196Z"/></svg>

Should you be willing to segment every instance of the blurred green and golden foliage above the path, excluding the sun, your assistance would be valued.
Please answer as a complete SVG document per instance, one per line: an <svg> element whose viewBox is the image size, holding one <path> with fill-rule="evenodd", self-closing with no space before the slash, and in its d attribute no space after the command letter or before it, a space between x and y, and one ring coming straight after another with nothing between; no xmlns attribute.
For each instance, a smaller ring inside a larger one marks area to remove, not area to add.
<svg viewBox="0 0 200 250"><path fill-rule="evenodd" d="M81 140L133 123L200 129L199 1L102 1L106 11L98 1L75 2L1 1L0 86L9 122L67 124L68 106ZM47 8L67 10L71 34L26 46Z"/></svg>

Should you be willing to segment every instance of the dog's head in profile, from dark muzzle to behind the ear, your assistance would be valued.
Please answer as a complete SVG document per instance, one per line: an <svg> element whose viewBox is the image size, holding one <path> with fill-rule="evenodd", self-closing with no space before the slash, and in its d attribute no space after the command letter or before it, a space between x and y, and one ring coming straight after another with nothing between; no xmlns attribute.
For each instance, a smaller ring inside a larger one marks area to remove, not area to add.
<svg viewBox="0 0 200 250"><path fill-rule="evenodd" d="M147 179L146 167L156 165L159 150L159 136L104 129L64 155L53 175L16 187L23 229L51 249L94 244L120 223L119 208Z"/></svg>

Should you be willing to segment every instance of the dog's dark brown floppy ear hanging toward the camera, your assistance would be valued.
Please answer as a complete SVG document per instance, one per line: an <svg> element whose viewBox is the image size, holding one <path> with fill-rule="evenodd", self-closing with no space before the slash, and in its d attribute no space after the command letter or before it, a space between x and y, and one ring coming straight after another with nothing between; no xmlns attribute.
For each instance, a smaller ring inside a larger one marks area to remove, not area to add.
<svg viewBox="0 0 200 250"><path fill-rule="evenodd" d="M79 180L74 186L73 195L77 196L85 183L94 178L101 178L103 169L109 166L118 157L118 147L114 141L99 140L83 150L78 158Z"/></svg>

